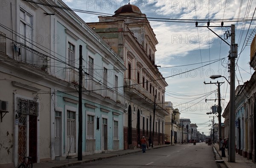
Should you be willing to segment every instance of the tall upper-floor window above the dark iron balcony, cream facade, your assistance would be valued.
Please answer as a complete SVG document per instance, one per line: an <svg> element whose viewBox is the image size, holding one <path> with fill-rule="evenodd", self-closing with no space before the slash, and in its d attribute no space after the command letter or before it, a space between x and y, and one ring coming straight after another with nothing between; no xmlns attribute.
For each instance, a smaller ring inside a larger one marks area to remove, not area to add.
<svg viewBox="0 0 256 168"><path fill-rule="evenodd" d="M32 15L20 9L20 42L32 48Z"/></svg>

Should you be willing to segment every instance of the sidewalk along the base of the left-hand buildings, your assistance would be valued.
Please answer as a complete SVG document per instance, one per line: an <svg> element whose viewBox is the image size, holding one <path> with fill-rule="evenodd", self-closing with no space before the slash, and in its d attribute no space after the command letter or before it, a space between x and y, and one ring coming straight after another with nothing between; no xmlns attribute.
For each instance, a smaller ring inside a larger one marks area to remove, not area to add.
<svg viewBox="0 0 256 168"><path fill-rule="evenodd" d="M153 148L148 147L148 149L146 150L153 150L153 149L163 148L167 146L171 146L171 145L156 145ZM135 149L122 150L122 151L111 151L110 153L86 155L86 156L83 156L83 159L80 161L77 160L77 158L65 159L65 160L51 160L48 162L34 163L33 168L66 168L68 166L80 165L87 162L94 162L96 160L103 160L111 157L119 157L119 156L134 154L138 152L142 152L142 150L140 148L135 148Z"/></svg>

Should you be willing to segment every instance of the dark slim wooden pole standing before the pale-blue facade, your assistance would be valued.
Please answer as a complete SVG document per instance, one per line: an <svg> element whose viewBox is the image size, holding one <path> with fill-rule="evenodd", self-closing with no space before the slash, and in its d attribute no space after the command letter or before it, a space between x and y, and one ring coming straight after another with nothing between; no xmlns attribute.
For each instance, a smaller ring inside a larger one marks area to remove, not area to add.
<svg viewBox="0 0 256 168"><path fill-rule="evenodd" d="M78 98L78 152L77 152L77 160L82 160L82 141L83 141L83 114L82 114L82 82L83 82L83 74L82 74L82 66L83 66L83 56L82 56L82 45L79 45L79 98Z"/></svg>

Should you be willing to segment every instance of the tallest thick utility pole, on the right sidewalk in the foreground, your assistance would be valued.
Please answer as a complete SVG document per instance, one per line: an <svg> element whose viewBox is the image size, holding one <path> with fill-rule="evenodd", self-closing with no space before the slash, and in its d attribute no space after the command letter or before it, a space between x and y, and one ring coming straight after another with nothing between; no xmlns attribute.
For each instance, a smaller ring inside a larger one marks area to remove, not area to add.
<svg viewBox="0 0 256 168"><path fill-rule="evenodd" d="M228 161L236 161L235 149L235 61L237 58L237 44L235 44L235 25L231 25L230 45L230 126L229 126L229 155Z"/></svg>

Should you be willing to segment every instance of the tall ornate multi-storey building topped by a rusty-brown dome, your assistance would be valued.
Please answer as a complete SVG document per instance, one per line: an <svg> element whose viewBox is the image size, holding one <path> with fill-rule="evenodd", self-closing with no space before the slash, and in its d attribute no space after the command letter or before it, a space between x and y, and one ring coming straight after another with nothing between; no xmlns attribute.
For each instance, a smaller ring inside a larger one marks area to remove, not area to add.
<svg viewBox="0 0 256 168"><path fill-rule="evenodd" d="M125 106L124 148L137 146L143 135L154 144L164 141L164 105L168 85L155 64L157 39L146 15L127 4L111 17L87 23L123 59ZM154 103L155 102L155 103ZM154 110L155 107L155 110ZM154 134L153 134L154 132Z"/></svg>

